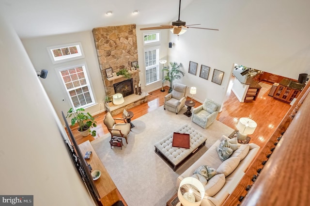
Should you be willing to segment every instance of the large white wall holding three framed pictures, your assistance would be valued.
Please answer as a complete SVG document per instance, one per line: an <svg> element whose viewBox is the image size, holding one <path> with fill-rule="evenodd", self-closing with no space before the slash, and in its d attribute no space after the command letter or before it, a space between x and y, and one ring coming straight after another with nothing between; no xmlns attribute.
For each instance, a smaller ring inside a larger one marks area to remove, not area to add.
<svg viewBox="0 0 310 206"><path fill-rule="evenodd" d="M305 0L194 0L180 19L219 31L170 35L169 59L184 64L181 81L197 87L199 101L224 101L233 63L298 79L310 71L309 8ZM198 63L196 76L188 74L189 61ZM201 64L211 67L208 80L199 77ZM211 82L215 68L225 72L221 85Z"/></svg>

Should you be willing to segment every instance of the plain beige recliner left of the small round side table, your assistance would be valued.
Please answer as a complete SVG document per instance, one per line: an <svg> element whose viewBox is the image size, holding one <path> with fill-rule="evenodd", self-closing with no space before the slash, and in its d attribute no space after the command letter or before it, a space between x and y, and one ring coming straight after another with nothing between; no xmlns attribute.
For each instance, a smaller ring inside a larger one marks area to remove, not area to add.
<svg viewBox="0 0 310 206"><path fill-rule="evenodd" d="M187 97L186 90L186 85L174 83L172 86L172 92L165 96L164 110L167 109L178 114L185 105Z"/></svg>

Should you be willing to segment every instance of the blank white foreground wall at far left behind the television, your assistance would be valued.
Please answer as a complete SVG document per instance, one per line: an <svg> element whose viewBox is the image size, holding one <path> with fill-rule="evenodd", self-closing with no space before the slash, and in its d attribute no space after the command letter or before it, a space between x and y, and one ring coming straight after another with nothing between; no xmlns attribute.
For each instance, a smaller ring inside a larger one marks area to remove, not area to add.
<svg viewBox="0 0 310 206"><path fill-rule="evenodd" d="M92 206L63 143L63 128L23 45L0 16L0 194L37 206Z"/></svg>

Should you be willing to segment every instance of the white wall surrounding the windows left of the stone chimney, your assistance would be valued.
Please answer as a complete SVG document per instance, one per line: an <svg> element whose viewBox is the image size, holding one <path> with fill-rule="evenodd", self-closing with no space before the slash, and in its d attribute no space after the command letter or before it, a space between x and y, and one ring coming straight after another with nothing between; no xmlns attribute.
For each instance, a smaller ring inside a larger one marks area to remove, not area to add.
<svg viewBox="0 0 310 206"><path fill-rule="evenodd" d="M53 64L47 47L81 42L85 58L73 60L65 63ZM98 64L97 54L94 47L93 34L91 31L77 32L62 35L46 36L41 38L22 39L22 43L31 59L31 62L36 71L47 69L48 74L46 79L39 78L42 82L50 101L53 104L59 118L61 111L65 113L72 107L69 97L63 88L62 81L58 76L57 68L70 66L79 63L86 63L90 78L96 105L87 108L86 110L92 114L96 114L105 110L104 97L105 90L101 77L101 72ZM62 100L65 101L62 101ZM62 121L63 122L63 121Z"/></svg>

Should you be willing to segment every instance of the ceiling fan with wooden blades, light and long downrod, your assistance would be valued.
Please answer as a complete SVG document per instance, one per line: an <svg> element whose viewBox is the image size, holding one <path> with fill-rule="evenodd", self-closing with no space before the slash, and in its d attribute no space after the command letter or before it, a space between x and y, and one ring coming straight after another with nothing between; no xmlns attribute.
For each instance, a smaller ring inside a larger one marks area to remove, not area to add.
<svg viewBox="0 0 310 206"><path fill-rule="evenodd" d="M180 10L181 10L181 0L180 0L180 3L179 3L179 19L177 21L172 21L172 25L167 25L166 24L166 25L160 25L159 27L141 28L140 30L173 29L173 33L176 34L176 35L180 35L180 34L186 32L186 30L184 30L184 28L195 28L195 29L205 29L205 30L216 30L216 31L218 31L218 29L192 27L192 26L200 25L200 24L186 25L185 21L181 21L180 20Z"/></svg>

